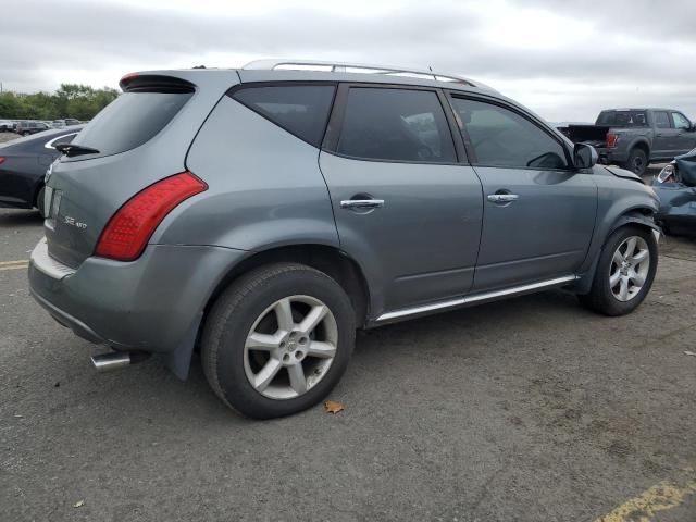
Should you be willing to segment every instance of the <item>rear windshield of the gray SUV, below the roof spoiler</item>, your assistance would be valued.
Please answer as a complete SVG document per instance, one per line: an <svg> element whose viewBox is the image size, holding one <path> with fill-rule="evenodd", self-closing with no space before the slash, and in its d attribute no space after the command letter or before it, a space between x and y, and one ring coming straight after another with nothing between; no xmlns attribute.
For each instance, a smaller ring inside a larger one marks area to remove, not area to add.
<svg viewBox="0 0 696 522"><path fill-rule="evenodd" d="M75 138L75 145L110 156L135 149L162 130L192 92L124 92Z"/></svg>

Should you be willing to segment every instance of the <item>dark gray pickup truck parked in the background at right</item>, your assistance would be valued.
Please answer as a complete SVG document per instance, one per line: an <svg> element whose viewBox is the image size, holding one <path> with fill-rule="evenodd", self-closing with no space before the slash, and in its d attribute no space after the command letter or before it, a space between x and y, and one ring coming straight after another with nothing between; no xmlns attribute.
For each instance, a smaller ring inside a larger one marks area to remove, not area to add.
<svg viewBox="0 0 696 522"><path fill-rule="evenodd" d="M561 128L574 142L593 145L602 163L643 175L649 163L670 161L696 147L696 126L673 109L609 109L595 125Z"/></svg>

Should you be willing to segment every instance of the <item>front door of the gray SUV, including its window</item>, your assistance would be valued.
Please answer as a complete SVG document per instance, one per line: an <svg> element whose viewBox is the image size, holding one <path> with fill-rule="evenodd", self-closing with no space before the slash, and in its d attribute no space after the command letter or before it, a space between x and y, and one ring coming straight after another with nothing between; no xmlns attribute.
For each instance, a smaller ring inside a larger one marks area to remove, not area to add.
<svg viewBox="0 0 696 522"><path fill-rule="evenodd" d="M452 95L484 194L472 291L572 278L592 239L597 186L561 138L505 103Z"/></svg>

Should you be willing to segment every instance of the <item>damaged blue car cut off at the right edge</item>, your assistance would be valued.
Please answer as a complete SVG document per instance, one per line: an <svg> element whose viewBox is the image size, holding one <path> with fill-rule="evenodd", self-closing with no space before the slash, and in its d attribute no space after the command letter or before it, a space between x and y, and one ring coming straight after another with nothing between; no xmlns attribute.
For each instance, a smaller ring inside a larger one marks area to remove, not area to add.
<svg viewBox="0 0 696 522"><path fill-rule="evenodd" d="M696 149L666 165L652 188L660 198L657 219L664 231L696 235Z"/></svg>

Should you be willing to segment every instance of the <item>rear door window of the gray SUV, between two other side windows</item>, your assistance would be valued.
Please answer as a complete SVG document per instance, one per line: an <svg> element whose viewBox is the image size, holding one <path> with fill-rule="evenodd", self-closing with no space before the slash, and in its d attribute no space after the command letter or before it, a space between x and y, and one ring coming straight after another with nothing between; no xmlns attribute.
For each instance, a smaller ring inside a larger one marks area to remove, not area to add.
<svg viewBox="0 0 696 522"><path fill-rule="evenodd" d="M337 152L373 160L457 161L439 99L425 90L351 88Z"/></svg>

